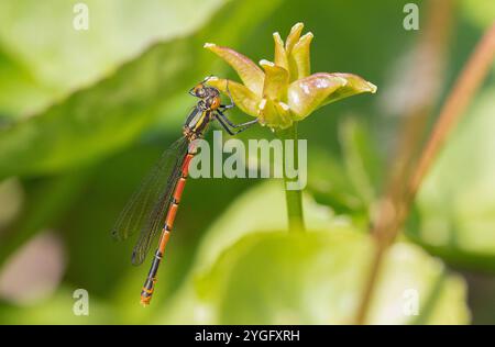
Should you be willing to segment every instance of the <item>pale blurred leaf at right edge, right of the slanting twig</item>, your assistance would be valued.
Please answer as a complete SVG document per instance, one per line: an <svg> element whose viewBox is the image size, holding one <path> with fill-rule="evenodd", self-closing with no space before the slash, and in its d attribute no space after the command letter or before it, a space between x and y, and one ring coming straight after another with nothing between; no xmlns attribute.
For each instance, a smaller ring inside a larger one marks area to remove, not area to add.
<svg viewBox="0 0 495 347"><path fill-rule="evenodd" d="M421 187L408 235L464 266L495 271L495 89L457 126Z"/></svg>

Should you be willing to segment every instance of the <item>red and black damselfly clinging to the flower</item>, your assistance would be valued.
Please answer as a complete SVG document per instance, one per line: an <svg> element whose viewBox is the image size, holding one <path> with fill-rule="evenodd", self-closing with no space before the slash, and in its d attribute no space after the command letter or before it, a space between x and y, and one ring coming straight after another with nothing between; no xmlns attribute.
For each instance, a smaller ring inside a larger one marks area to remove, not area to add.
<svg viewBox="0 0 495 347"><path fill-rule="evenodd" d="M140 233L132 253L133 265L141 265L144 261L160 233L158 247L141 291L143 305L147 305L153 295L158 266L165 254L186 184L189 163L196 154L194 141L201 138L209 123L215 120L231 135L239 134L257 122L255 119L242 124L232 123L224 113L234 107L230 92L228 92L230 104L221 104L219 90L208 86L208 79L210 77L189 90L189 93L199 101L186 119L183 127L184 136L165 150L125 205L112 231L117 239L125 239L134 233Z"/></svg>

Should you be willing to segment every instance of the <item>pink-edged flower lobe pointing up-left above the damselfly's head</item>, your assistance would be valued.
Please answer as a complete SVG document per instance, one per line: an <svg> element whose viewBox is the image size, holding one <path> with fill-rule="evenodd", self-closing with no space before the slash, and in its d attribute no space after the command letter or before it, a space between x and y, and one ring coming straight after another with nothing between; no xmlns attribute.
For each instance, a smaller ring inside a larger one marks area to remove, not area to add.
<svg viewBox="0 0 495 347"><path fill-rule="evenodd" d="M205 48L210 49L220 58L226 60L239 75L242 82L258 97L263 92L263 81L265 76L261 68L256 66L250 58L228 47L217 46L216 44L206 43Z"/></svg>

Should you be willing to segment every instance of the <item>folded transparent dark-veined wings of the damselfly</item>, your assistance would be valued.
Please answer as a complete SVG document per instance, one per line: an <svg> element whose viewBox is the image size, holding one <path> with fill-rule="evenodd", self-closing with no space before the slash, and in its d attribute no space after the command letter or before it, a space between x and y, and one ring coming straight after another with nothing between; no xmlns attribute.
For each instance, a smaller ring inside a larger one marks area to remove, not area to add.
<svg viewBox="0 0 495 347"><path fill-rule="evenodd" d="M112 236L117 239L140 233L132 254L133 265L143 262L153 239L164 226L187 147L188 141L179 138L164 152L113 226Z"/></svg>

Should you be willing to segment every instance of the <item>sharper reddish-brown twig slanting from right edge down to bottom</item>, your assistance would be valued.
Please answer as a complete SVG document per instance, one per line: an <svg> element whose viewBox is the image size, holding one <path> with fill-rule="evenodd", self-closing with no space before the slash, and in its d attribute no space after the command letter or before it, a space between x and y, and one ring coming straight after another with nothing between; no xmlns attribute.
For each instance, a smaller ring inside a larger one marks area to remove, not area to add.
<svg viewBox="0 0 495 347"><path fill-rule="evenodd" d="M385 250L397 236L399 228L408 215L410 205L422 179L442 148L448 134L464 114L470 101L473 99L476 90L488 74L494 58L495 23L477 44L469 63L458 78L454 88L447 98L438 122L431 132L419 160L414 160L414 163L418 164L413 170L413 175L409 175L407 169L398 170L396 178L392 180L392 188L388 190L387 197L381 203L377 220L372 231L376 243L376 251L371 264L370 277L358 311L358 324L363 324L365 322ZM413 153L413 150L407 155L410 155L410 153ZM406 184L404 184L404 182Z"/></svg>

